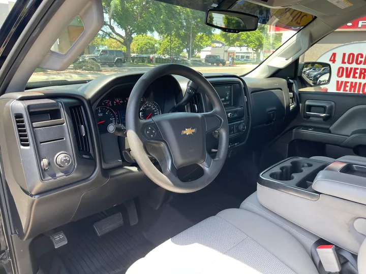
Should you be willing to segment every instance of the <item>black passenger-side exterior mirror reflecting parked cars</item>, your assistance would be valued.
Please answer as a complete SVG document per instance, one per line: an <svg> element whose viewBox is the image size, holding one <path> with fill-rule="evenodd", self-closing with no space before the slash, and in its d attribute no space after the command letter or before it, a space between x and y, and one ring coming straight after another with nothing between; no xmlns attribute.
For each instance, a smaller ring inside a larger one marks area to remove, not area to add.
<svg viewBox="0 0 366 274"><path fill-rule="evenodd" d="M311 87L327 85L331 78L330 64L323 62L299 63L297 76Z"/></svg>

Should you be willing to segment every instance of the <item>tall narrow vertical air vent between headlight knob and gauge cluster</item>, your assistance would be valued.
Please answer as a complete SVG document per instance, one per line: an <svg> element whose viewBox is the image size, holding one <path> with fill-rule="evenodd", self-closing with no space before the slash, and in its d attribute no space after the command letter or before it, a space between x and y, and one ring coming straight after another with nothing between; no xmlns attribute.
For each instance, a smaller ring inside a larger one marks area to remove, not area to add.
<svg viewBox="0 0 366 274"><path fill-rule="evenodd" d="M74 126L76 142L80 157L91 158L89 139L86 132L83 110L81 106L71 107L71 119Z"/></svg>

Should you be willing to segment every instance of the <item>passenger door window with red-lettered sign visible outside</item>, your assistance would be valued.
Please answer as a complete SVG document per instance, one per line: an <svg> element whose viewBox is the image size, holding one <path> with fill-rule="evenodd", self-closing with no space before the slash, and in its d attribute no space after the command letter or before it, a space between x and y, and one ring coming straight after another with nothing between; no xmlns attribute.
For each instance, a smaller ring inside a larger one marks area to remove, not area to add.
<svg viewBox="0 0 366 274"><path fill-rule="evenodd" d="M324 37L301 55L299 62L311 62L303 66L301 78L317 85L300 91L366 94L366 16ZM322 62L330 65L330 73Z"/></svg>

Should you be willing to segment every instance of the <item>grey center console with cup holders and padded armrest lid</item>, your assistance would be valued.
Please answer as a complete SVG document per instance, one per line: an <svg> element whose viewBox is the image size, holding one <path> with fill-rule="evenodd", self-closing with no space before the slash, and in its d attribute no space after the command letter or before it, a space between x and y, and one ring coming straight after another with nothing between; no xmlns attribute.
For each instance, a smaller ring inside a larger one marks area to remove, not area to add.
<svg viewBox="0 0 366 274"><path fill-rule="evenodd" d="M266 208L352 253L365 239L366 158L288 158L260 174L257 195Z"/></svg>

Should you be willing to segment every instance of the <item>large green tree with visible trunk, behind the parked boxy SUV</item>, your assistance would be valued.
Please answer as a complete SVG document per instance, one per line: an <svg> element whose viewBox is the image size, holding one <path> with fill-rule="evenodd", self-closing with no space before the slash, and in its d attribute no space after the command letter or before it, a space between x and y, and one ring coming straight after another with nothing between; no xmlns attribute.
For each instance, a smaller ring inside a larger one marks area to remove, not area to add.
<svg viewBox="0 0 366 274"><path fill-rule="evenodd" d="M127 61L131 60L131 44L135 35L154 31L154 0L103 0L103 33L126 47Z"/></svg>

